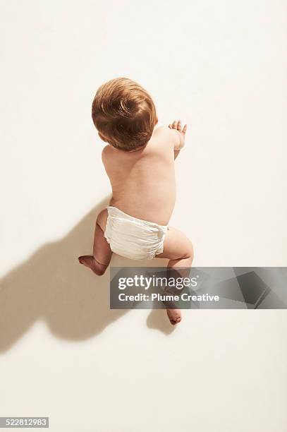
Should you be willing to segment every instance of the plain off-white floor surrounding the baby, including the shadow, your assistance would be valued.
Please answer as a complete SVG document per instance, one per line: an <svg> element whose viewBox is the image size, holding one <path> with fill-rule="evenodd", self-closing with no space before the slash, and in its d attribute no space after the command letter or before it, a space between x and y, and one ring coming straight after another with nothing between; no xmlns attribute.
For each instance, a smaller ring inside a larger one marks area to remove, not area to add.
<svg viewBox="0 0 287 432"><path fill-rule="evenodd" d="M195 266L287 265L285 2L0 7L0 415L49 416L53 432L285 431L285 311L185 311L174 330L163 311L109 311L109 275L77 260L110 193L92 98L127 76L160 125L188 124L171 224Z"/></svg>

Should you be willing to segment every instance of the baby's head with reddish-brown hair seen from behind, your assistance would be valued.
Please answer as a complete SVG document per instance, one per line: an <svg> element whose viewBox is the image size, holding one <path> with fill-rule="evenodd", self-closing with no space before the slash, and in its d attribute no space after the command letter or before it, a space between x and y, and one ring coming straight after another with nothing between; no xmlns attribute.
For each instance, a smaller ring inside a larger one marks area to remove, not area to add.
<svg viewBox="0 0 287 432"><path fill-rule="evenodd" d="M157 112L152 97L140 84L114 78L97 90L92 120L106 143L130 151L147 144L157 124Z"/></svg>

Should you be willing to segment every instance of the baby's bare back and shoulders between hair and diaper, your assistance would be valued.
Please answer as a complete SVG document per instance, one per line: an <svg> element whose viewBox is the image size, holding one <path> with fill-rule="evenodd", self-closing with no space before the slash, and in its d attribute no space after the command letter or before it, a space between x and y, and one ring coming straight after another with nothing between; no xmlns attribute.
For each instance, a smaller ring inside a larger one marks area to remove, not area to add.
<svg viewBox="0 0 287 432"><path fill-rule="evenodd" d="M173 143L156 128L145 148L133 152L106 145L102 160L113 196L110 205L138 219L166 225L176 200Z"/></svg>

